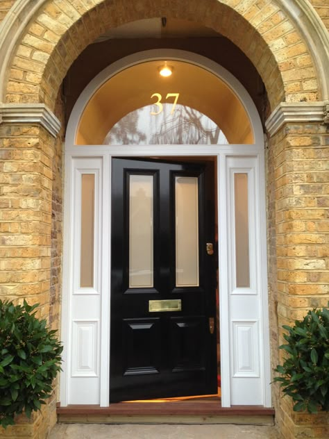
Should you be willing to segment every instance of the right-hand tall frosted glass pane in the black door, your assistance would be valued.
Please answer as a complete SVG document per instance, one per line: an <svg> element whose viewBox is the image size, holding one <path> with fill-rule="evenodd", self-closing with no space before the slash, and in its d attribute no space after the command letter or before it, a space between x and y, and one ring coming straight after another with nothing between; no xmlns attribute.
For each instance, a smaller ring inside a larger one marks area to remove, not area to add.
<svg viewBox="0 0 329 439"><path fill-rule="evenodd" d="M197 177L176 177L176 286L199 286Z"/></svg>

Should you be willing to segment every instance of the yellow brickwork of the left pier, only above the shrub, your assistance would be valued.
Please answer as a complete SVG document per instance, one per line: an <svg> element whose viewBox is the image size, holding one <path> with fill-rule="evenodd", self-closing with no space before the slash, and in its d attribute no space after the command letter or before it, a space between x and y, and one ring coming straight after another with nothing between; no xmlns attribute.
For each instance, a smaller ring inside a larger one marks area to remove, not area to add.
<svg viewBox="0 0 329 439"><path fill-rule="evenodd" d="M3 295L25 295L48 315L53 151L39 126L0 126Z"/></svg>

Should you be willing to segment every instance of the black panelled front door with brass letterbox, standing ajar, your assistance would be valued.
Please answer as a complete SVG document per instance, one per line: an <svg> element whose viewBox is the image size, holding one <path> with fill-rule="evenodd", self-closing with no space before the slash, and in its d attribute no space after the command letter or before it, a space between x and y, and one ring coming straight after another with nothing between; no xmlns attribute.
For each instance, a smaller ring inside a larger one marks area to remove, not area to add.
<svg viewBox="0 0 329 439"><path fill-rule="evenodd" d="M112 160L111 402L217 393L212 174Z"/></svg>

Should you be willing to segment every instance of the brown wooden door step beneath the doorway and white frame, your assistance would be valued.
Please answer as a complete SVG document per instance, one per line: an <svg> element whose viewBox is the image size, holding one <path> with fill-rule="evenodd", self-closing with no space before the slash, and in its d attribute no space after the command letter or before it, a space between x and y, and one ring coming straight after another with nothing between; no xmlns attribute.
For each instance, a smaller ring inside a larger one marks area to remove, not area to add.
<svg viewBox="0 0 329 439"><path fill-rule="evenodd" d="M57 406L58 422L86 424L273 425L275 411L262 406L221 407L220 401L120 402L109 407Z"/></svg>

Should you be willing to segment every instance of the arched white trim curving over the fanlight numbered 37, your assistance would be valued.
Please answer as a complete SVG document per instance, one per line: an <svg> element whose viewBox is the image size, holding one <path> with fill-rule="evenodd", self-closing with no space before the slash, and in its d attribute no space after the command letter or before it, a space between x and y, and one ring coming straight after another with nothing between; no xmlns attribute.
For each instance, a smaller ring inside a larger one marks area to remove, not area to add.
<svg viewBox="0 0 329 439"><path fill-rule="evenodd" d="M146 61L162 59L185 61L187 63L202 67L203 69L208 70L208 72L211 72L212 74L221 78L221 80L225 82L226 85L233 90L233 92L235 92L244 106L251 122L255 144L264 144L262 123L260 121L260 115L258 114L257 108L255 107L253 100L249 96L244 86L237 80L237 78L235 78L235 76L233 76L233 74L230 74L228 70L224 69L219 64L214 63L214 61L210 60L209 58L205 58L205 56L201 56L196 53L176 49L153 49L133 53L133 55L121 58L121 60L118 60L117 62L106 67L106 69L103 69L97 76L95 76L94 79L92 79L92 81L90 81L76 101L76 104L69 117L65 145L67 147L71 147L71 145L74 144L76 139L76 131L78 129L78 122L81 119L83 110L85 110L87 103L90 101L96 90L103 85L103 83L106 83L106 81L108 81L112 76L115 76L115 74L118 74L128 67L145 63Z"/></svg>

